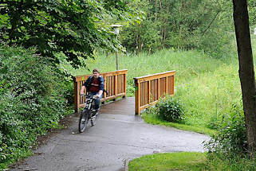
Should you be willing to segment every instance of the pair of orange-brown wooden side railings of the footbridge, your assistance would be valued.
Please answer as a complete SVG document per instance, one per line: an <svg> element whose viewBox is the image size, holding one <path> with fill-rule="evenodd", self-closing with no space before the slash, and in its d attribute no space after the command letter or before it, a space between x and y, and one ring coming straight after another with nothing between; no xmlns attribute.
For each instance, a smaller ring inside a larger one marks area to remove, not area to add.
<svg viewBox="0 0 256 171"><path fill-rule="evenodd" d="M126 96L126 78L128 70L119 70L115 72L100 73L104 77L104 89L108 94L104 93L101 103L106 100L116 100L118 97ZM76 76L74 81L75 93L75 112L79 112L79 108L85 106L85 97L79 95L85 80L91 75ZM175 71L157 73L150 76L140 76L134 78L135 83L135 114L140 115L140 111L144 110L164 95L174 95Z"/></svg>

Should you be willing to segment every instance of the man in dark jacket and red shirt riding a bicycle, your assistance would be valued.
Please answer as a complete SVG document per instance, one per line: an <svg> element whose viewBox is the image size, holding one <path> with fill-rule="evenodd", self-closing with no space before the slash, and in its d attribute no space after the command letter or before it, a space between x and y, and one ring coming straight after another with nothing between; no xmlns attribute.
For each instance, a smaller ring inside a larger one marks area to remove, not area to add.
<svg viewBox="0 0 256 171"><path fill-rule="evenodd" d="M93 95L94 97L96 97L96 105L93 110L93 115L97 115L97 112L100 108L100 99L102 98L104 91L104 78L103 76L100 76L99 69L93 69L93 76L89 76L89 78L85 81L85 84L83 84L83 86L81 87L80 94L84 94L85 87L89 95Z"/></svg>

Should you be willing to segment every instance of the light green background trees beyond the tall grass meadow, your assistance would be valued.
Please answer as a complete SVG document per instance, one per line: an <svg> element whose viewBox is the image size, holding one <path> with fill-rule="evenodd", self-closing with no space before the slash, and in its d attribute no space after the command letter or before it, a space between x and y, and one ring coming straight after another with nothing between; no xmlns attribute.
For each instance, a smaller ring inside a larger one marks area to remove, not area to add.
<svg viewBox="0 0 256 171"><path fill-rule="evenodd" d="M128 25L122 45L129 51L200 49L211 56L230 55L232 3L223 0L149 1L137 4L146 18Z"/></svg>

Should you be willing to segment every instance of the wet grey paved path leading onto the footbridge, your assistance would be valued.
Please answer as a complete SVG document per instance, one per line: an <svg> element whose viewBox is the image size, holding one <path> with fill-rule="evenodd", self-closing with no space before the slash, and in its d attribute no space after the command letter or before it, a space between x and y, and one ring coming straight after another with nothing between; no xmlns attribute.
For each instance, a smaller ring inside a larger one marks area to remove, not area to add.
<svg viewBox="0 0 256 171"><path fill-rule="evenodd" d="M209 138L165 126L147 124L134 115L134 98L104 105L96 126L82 134L78 118L68 129L53 135L22 165L10 170L120 171L128 160L145 154L203 151Z"/></svg>

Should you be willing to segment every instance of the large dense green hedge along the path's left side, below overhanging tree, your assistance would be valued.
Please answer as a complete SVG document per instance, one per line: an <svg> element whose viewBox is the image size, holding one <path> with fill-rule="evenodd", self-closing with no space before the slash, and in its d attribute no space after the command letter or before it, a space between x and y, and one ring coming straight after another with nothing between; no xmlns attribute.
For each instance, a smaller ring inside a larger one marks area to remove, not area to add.
<svg viewBox="0 0 256 171"><path fill-rule="evenodd" d="M29 155L65 114L65 78L34 52L0 47L0 168Z"/></svg>

